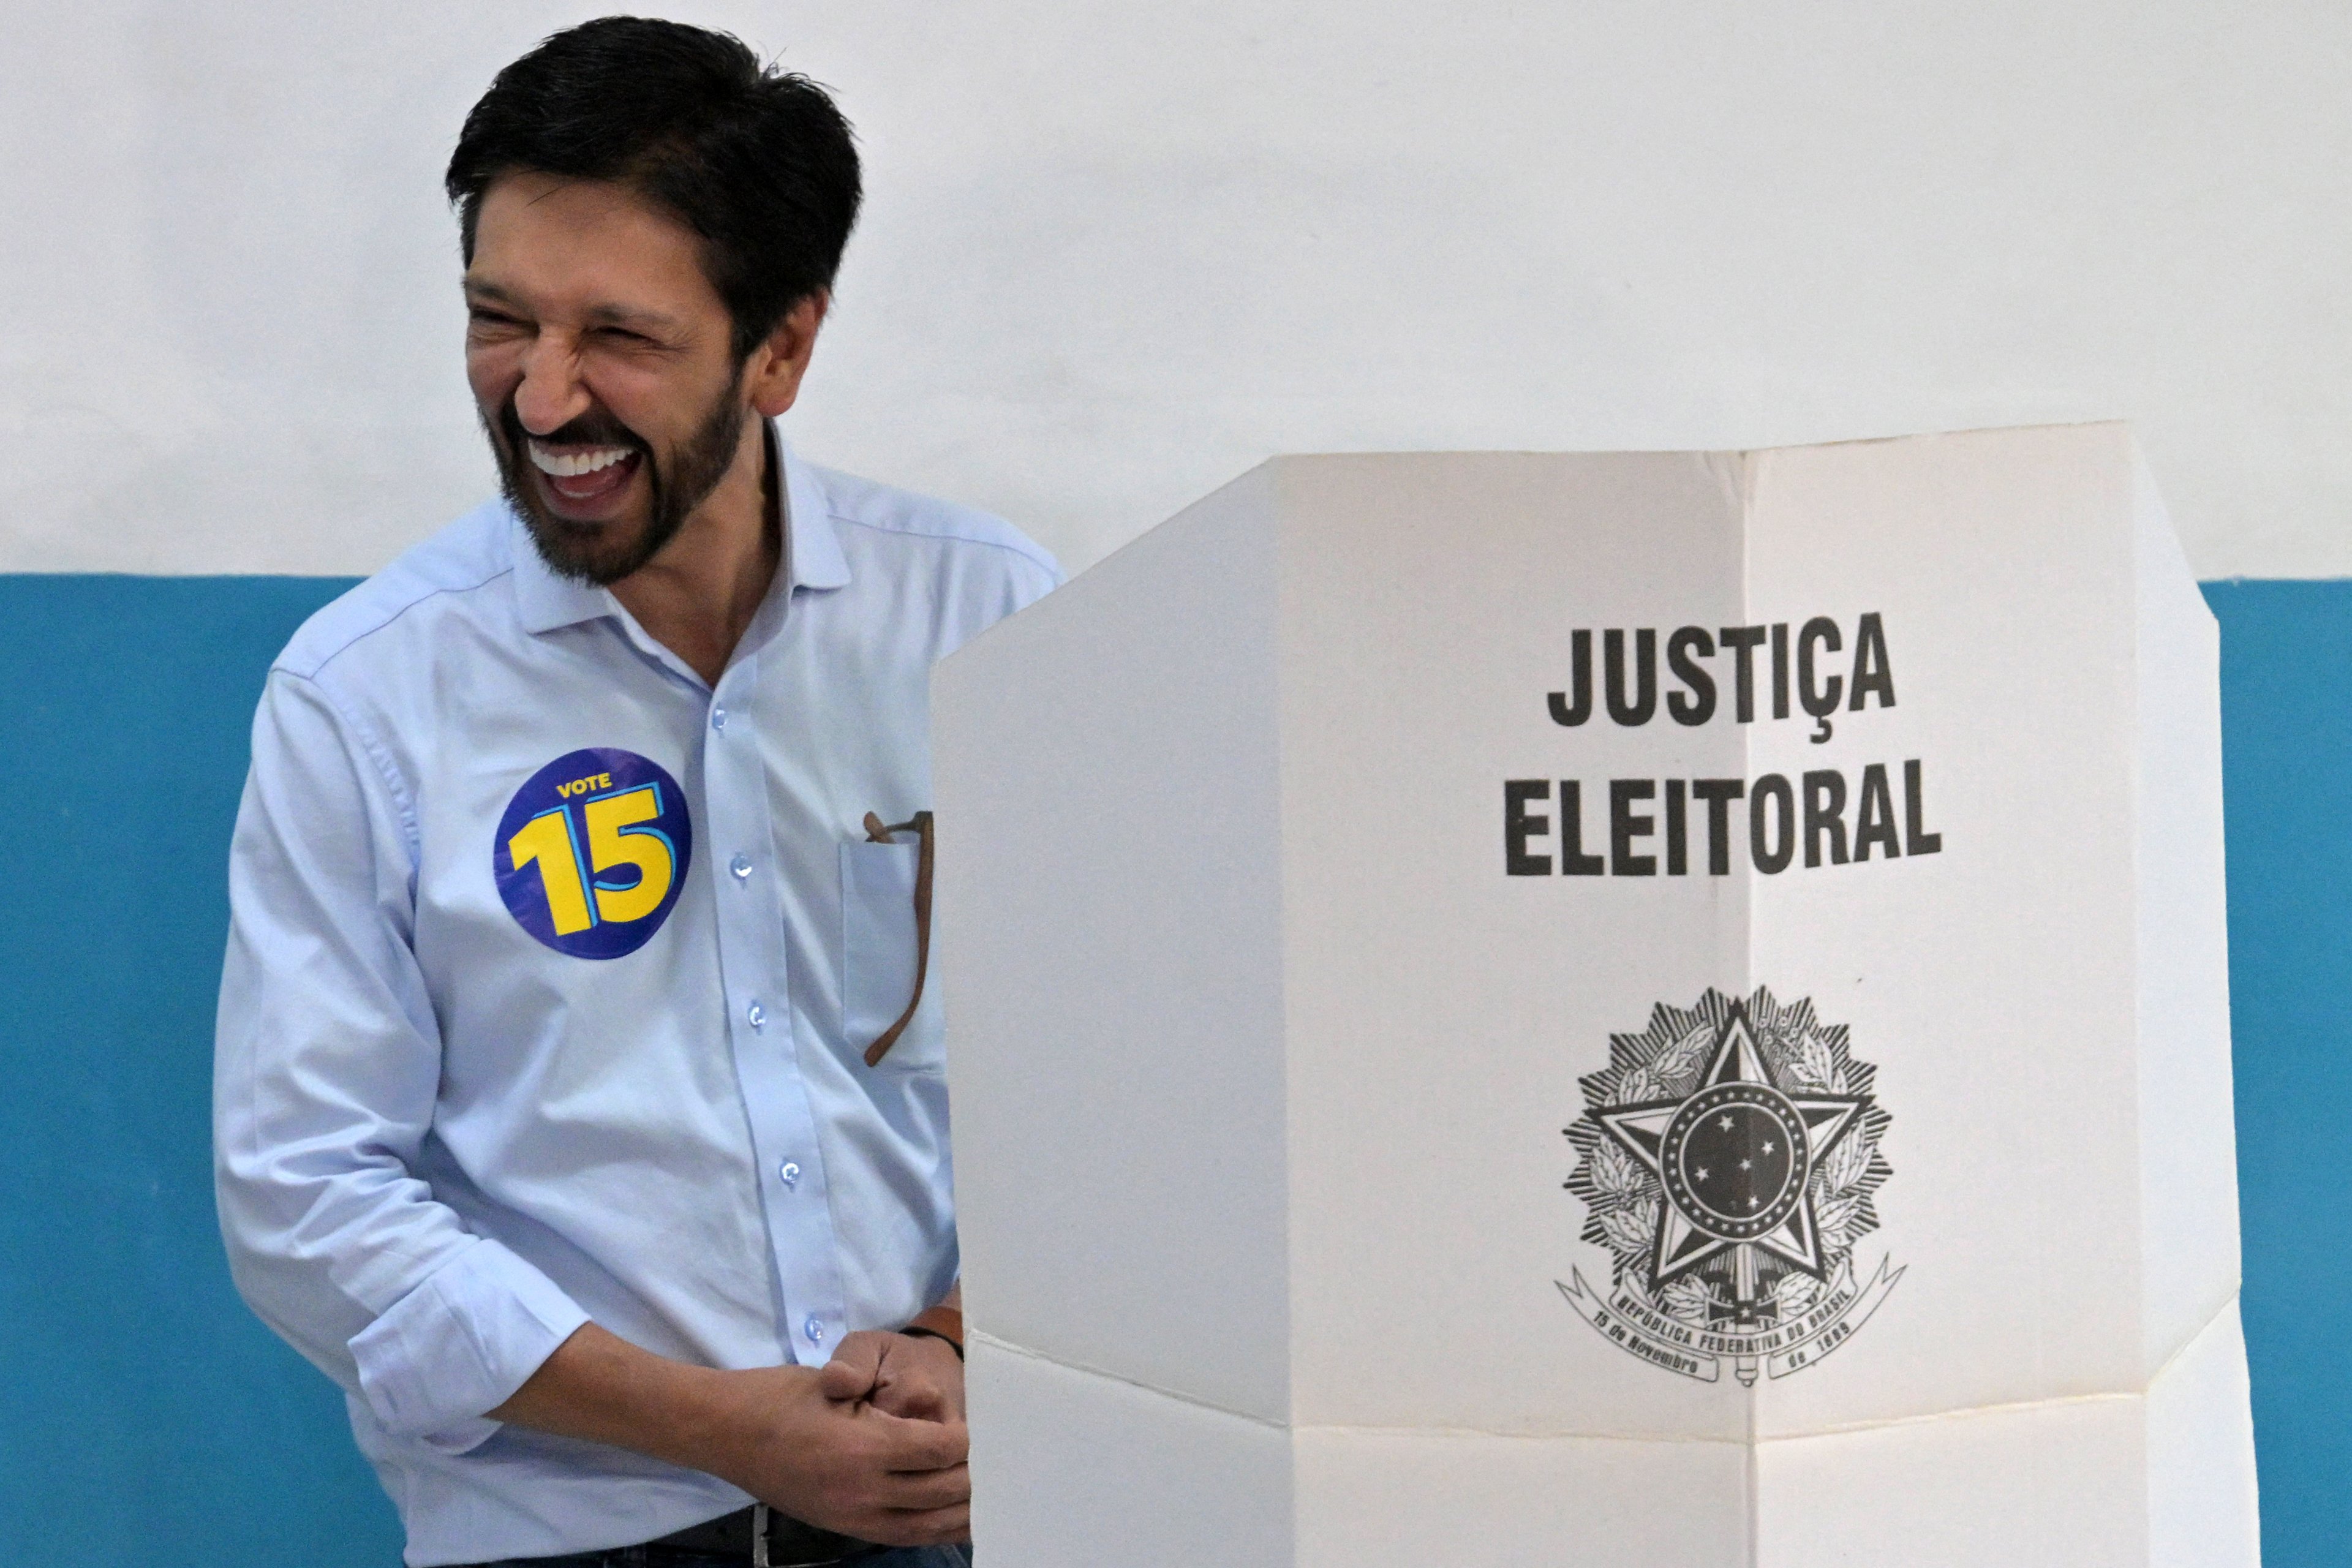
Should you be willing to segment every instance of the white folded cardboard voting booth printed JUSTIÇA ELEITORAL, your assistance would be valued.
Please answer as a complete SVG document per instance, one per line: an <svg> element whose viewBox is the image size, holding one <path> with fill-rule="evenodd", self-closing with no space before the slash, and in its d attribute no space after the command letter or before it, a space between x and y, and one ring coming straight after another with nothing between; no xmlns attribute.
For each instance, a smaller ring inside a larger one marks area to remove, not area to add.
<svg viewBox="0 0 2352 1568"><path fill-rule="evenodd" d="M1279 458L941 665L1016 1568L2256 1561L2119 425Z"/></svg>

